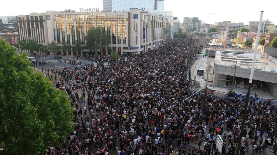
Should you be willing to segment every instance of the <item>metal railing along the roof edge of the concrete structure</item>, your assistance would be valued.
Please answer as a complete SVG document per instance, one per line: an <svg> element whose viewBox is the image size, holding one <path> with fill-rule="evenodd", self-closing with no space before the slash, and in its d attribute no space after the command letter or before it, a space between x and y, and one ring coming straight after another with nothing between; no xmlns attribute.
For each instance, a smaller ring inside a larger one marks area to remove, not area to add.
<svg viewBox="0 0 277 155"><path fill-rule="evenodd" d="M235 67L236 62L227 62L227 61L217 60L217 61L215 61L215 64ZM252 64L241 64L241 63L238 62L236 66L239 67L239 68L251 69ZM275 68L275 67L255 65L254 69L258 70L258 71L276 72L277 73L277 68Z"/></svg>

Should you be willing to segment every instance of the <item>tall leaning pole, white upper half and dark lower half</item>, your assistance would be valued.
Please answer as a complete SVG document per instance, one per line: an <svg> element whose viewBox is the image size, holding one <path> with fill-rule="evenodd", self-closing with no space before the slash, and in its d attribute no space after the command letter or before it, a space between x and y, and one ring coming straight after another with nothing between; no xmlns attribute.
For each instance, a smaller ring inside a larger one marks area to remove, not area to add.
<svg viewBox="0 0 277 155"><path fill-rule="evenodd" d="M249 84L248 84L248 91L247 91L247 96L246 96L246 101L245 101L246 103L244 105L244 113L243 113L243 119L242 119L242 125L241 125L241 134L239 135L239 143L238 143L238 146L237 146L236 155L239 155L239 151L240 151L240 147L241 147L241 137L243 136L244 124L245 124L246 113L247 113L248 102L249 102L249 95L250 95L250 90L251 90L251 85L252 85L252 80L253 80L253 74L254 74L255 61L256 61L257 50L258 50L258 43L259 43L259 39L260 39L260 31L261 31L261 26L262 26L263 14L264 14L264 11L261 11L259 27L258 27L258 32L257 32L257 39L256 39L256 42L255 42L253 63L252 63L252 67L251 67L251 73L250 73Z"/></svg>

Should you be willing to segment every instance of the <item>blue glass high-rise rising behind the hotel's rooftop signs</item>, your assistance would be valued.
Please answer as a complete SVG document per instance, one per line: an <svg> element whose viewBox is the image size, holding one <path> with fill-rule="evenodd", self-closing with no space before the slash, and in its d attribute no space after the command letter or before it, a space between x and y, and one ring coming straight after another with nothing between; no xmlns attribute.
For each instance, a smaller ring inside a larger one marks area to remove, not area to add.
<svg viewBox="0 0 277 155"><path fill-rule="evenodd" d="M164 11L164 0L103 0L104 11Z"/></svg>

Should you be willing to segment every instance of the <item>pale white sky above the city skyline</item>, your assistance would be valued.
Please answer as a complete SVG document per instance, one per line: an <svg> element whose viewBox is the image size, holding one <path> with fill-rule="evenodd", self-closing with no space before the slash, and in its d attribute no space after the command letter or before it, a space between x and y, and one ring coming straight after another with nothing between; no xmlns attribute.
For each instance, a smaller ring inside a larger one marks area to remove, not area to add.
<svg viewBox="0 0 277 155"><path fill-rule="evenodd" d="M257 1L257 2L256 2ZM14 0L15 5L1 7L0 15L16 16L29 15L30 12L46 12L46 10L62 11L71 9L79 11L79 8L99 8L102 10L102 0L78 1L78 0ZM199 17L208 24L220 21L232 23L259 21L260 11L264 11L263 20L271 20L277 24L277 1L207 1L207 0L164 0L164 10L173 11L173 16L183 22L183 17ZM211 13L211 15L209 15ZM212 14L214 13L214 14Z"/></svg>

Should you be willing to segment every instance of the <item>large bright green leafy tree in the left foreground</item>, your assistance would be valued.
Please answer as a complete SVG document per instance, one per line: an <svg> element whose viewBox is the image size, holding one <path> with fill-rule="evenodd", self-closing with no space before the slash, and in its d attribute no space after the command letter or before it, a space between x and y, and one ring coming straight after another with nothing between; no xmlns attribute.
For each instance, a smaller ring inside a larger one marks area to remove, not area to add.
<svg viewBox="0 0 277 155"><path fill-rule="evenodd" d="M27 54L0 40L1 154L44 154L73 132L71 102L48 78L33 72Z"/></svg>

